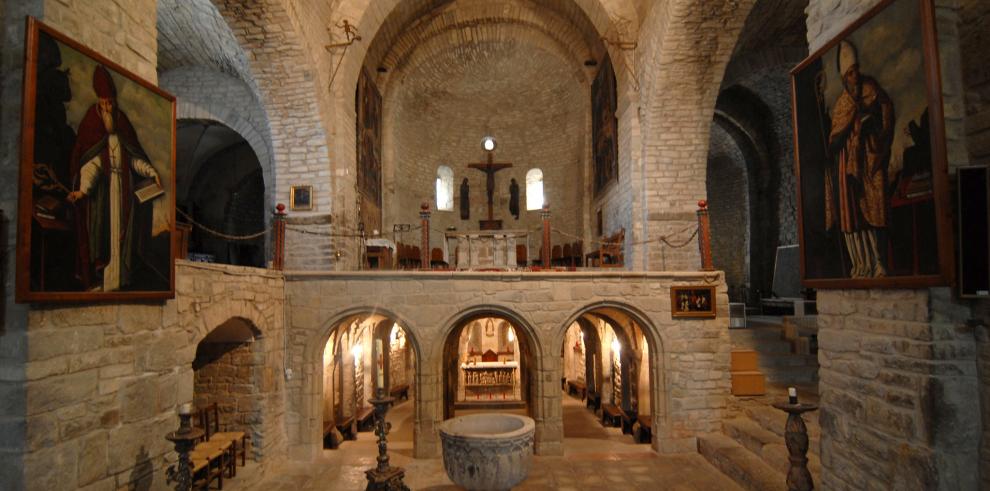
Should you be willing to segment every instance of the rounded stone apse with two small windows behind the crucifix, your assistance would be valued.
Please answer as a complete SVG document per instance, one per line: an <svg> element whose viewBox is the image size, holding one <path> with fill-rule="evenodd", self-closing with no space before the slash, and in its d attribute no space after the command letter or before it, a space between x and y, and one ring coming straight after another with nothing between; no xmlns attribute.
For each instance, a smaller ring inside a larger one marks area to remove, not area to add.
<svg viewBox="0 0 990 491"><path fill-rule="evenodd" d="M590 87L605 53L590 21L570 1L437 3L397 7L365 59L363 77L382 97L381 232L417 240L403 230L418 223L423 203L437 231L475 231L489 218L503 230L533 230L545 203L566 234L561 242L583 238L592 206ZM485 137L497 142L491 151ZM359 183L362 152L374 152L361 138ZM500 167L491 175L471 167L489 161ZM533 175L542 187L529 184ZM442 240L433 234L431 248Z"/></svg>

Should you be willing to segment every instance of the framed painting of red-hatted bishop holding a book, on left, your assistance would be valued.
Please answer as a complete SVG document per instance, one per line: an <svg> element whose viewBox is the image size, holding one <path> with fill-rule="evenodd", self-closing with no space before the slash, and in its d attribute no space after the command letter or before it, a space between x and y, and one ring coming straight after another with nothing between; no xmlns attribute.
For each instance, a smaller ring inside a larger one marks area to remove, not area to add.
<svg viewBox="0 0 990 491"><path fill-rule="evenodd" d="M29 18L19 302L174 296L175 98Z"/></svg>

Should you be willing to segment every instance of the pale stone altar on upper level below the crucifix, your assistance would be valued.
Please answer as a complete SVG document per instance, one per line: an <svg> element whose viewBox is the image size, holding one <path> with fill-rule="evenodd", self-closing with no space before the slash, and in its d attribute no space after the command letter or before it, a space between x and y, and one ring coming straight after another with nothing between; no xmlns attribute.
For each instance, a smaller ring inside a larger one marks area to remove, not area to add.
<svg viewBox="0 0 990 491"><path fill-rule="evenodd" d="M475 230L444 232L443 256L458 270L516 269L516 246L524 245L529 256L526 230Z"/></svg>

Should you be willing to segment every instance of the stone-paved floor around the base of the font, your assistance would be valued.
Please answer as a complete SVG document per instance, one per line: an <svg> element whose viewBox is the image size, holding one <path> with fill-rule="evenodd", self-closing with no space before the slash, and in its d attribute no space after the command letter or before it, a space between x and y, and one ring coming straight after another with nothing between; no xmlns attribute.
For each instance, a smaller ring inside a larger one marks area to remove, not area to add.
<svg viewBox="0 0 990 491"><path fill-rule="evenodd" d="M633 443L632 437L622 435L618 428L601 428L594 415L583 408L581 401L564 395L565 440L563 457L533 458L533 467L517 490L738 490L729 478L721 474L697 453L658 455L648 445ZM389 412L396 438L389 439L392 465L406 470L405 483L413 490L458 490L447 478L441 459L413 459L412 407L403 402ZM592 426L594 425L594 426ZM604 431L582 431L581 437L567 435L567 428L596 428ZM355 441L345 442L338 450L326 450L314 462L290 462L260 482L252 479L252 466L244 469L241 482L256 482L240 487L237 479L228 481L225 489L251 491L309 491L362 490L364 471L375 465L377 455L375 436L360 433ZM604 465L603 465L604 464ZM240 477L240 476L239 476ZM229 486L229 488L227 488Z"/></svg>

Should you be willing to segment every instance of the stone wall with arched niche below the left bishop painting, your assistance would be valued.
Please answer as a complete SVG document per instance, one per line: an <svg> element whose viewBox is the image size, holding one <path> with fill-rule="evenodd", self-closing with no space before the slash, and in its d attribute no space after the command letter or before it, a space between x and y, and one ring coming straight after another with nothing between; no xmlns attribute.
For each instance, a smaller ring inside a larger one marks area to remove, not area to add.
<svg viewBox="0 0 990 491"><path fill-rule="evenodd" d="M37 306L27 337L26 489L165 487L164 435L193 399L196 346L232 317L261 332L252 355L256 454L285 453L280 276L181 262L167 302ZM263 373L258 373L263 372ZM147 489L147 488L145 488Z"/></svg>

